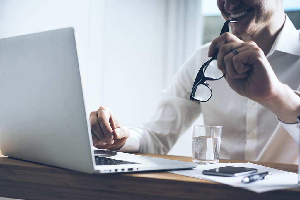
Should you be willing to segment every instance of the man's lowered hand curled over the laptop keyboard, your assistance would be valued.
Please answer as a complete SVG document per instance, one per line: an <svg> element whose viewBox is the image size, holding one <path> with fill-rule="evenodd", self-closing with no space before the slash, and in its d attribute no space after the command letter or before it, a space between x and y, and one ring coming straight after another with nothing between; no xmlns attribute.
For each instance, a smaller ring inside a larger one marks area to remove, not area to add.
<svg viewBox="0 0 300 200"><path fill-rule="evenodd" d="M117 150L129 137L129 129L122 126L109 108L100 107L90 114L93 145L99 149Z"/></svg>

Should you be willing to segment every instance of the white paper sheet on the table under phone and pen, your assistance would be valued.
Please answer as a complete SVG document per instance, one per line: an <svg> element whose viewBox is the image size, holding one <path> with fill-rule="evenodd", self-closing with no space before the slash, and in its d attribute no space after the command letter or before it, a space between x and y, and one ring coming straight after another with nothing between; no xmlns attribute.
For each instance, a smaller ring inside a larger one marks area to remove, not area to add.
<svg viewBox="0 0 300 200"><path fill-rule="evenodd" d="M270 171L272 175L270 176L270 178L265 180L258 180L252 183L242 183L241 180L246 176L221 177L221 176L209 176L209 175L202 174L203 170L225 167L225 166L256 168L258 173ZM233 187L241 187L257 193L268 192L271 190L278 190L278 189L293 188L293 187L297 187L297 183L298 183L298 174L296 173L269 168L262 165L253 164L250 162L215 163L209 165L198 165L198 167L190 170L177 170L177 171L168 171L168 172L173 174L199 178L199 179L211 180L218 183L230 185Z"/></svg>

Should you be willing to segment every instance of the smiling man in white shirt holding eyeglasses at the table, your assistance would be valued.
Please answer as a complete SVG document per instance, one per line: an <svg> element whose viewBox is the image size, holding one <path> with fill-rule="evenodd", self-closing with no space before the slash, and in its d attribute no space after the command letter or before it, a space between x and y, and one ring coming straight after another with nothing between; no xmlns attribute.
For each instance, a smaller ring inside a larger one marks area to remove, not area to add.
<svg viewBox="0 0 300 200"><path fill-rule="evenodd" d="M167 153L202 112L205 124L223 126L220 158L296 163L299 32L284 14L282 0L217 0L217 5L226 20L238 18L230 23L232 34L199 47L184 62L163 91L156 116L140 128L122 126L108 108L92 112L95 147ZM225 79L209 82L208 102L193 102L196 74L217 49Z"/></svg>

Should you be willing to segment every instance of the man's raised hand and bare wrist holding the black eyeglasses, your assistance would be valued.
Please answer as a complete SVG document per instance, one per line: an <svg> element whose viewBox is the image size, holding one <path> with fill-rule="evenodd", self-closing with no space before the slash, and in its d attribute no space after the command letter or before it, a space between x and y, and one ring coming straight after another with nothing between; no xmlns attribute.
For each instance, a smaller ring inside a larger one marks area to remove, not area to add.
<svg viewBox="0 0 300 200"><path fill-rule="evenodd" d="M212 56L217 48L218 68L235 92L265 106L283 122L296 121L300 97L277 79L264 52L255 42L243 42L226 33L211 43L208 56ZM233 53L233 49L238 54Z"/></svg>

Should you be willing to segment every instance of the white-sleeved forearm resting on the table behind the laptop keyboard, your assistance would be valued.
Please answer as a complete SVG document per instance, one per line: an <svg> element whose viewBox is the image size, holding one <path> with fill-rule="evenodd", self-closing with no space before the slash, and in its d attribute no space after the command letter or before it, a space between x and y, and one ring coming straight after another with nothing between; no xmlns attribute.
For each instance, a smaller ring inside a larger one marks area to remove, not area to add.
<svg viewBox="0 0 300 200"><path fill-rule="evenodd" d="M139 128L129 127L129 142L126 141L119 151L166 154L200 112L198 102L164 96L154 118Z"/></svg>

